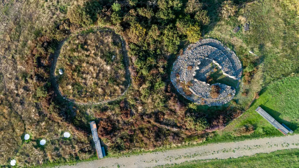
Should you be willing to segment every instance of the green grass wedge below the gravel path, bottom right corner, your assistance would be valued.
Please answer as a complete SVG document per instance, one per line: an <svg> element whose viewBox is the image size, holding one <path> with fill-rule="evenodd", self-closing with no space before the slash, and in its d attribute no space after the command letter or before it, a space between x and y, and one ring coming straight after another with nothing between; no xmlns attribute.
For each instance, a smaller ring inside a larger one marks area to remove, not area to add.
<svg viewBox="0 0 299 168"><path fill-rule="evenodd" d="M197 167L221 167L221 168L237 168L237 167L299 167L299 150L280 150L269 154L262 153L252 156L244 156L240 158L231 158L223 160L203 160L191 161L178 165L167 165L163 167L177 168L197 168Z"/></svg>

